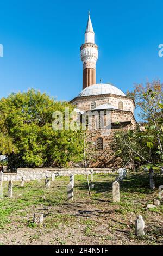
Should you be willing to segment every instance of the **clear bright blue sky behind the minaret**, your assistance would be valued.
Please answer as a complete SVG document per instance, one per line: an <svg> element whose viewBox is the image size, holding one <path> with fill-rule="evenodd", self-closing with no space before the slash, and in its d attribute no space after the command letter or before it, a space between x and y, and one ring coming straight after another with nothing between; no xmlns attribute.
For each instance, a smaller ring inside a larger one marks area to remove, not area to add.
<svg viewBox="0 0 163 256"><path fill-rule="evenodd" d="M125 93L134 83L163 81L162 0L3 0L0 9L0 97L28 88L58 100L78 95L89 9L99 46L97 83L102 78Z"/></svg>

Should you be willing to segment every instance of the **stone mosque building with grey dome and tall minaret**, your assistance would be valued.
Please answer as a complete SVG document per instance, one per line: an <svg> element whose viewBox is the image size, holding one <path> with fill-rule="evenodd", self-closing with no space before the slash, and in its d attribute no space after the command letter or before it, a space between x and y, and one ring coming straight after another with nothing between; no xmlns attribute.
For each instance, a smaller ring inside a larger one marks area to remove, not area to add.
<svg viewBox="0 0 163 256"><path fill-rule="evenodd" d="M98 59L98 46L95 44L95 33L93 31L90 14L85 31L85 41L80 47L81 59L83 62L83 90L70 102L76 105L78 111L103 111L110 113L111 133L101 129L87 131L87 139L92 142L95 153L91 167L114 167L120 160L113 156L109 144L112 135L120 129L134 129L136 120L134 117L135 102L131 97L126 96L120 89L112 84L96 83L96 62ZM98 122L106 122L98 119ZM92 156L93 159L93 156Z"/></svg>

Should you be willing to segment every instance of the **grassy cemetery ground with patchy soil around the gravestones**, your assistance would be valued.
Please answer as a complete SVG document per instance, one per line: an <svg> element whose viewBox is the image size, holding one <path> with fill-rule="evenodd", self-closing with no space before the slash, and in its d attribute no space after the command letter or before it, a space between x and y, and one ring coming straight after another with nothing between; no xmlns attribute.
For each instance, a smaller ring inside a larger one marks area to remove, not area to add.
<svg viewBox="0 0 163 256"><path fill-rule="evenodd" d="M116 174L94 174L95 188L87 191L85 175L75 176L74 199L67 201L69 177L56 177L46 189L29 181L14 182L8 198L3 182L0 200L1 245L162 245L163 205L145 209L158 198L163 176L155 171L155 190L149 190L149 174L127 173L120 186L120 202L112 202ZM45 197L44 197L45 196ZM35 212L44 214L43 225L33 223ZM138 215L145 221L143 237L135 236Z"/></svg>

